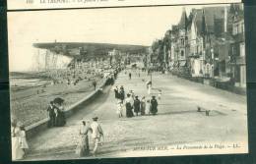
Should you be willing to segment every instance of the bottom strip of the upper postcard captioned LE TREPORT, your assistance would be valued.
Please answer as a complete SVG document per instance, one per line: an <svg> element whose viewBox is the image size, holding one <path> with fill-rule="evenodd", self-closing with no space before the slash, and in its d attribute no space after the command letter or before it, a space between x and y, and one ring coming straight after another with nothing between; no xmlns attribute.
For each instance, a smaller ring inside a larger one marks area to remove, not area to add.
<svg viewBox="0 0 256 164"><path fill-rule="evenodd" d="M8 0L8 10L241 3L241 0Z"/></svg>

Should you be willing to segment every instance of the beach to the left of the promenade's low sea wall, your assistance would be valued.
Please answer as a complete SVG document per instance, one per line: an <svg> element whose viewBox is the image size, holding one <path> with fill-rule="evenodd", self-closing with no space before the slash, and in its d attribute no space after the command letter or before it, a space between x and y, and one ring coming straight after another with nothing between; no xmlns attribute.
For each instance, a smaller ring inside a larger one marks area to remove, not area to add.
<svg viewBox="0 0 256 164"><path fill-rule="evenodd" d="M103 79L95 77L97 84ZM10 74L10 100L12 117L24 126L30 126L47 118L47 106L56 97L65 99L68 108L94 91L92 80L85 79L74 84L52 84L43 76L32 74ZM18 117L19 116L19 117Z"/></svg>

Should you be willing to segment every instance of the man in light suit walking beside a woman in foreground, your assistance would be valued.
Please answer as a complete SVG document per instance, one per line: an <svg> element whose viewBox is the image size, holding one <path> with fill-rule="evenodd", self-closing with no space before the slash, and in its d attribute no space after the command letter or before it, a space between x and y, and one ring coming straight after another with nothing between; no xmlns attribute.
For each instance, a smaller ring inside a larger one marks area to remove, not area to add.
<svg viewBox="0 0 256 164"><path fill-rule="evenodd" d="M92 139L94 142L94 150L93 155L96 155L97 145L100 141L100 137L103 137L103 131L100 127L100 125L97 123L97 117L93 118L93 123L91 124L91 130L92 130Z"/></svg>

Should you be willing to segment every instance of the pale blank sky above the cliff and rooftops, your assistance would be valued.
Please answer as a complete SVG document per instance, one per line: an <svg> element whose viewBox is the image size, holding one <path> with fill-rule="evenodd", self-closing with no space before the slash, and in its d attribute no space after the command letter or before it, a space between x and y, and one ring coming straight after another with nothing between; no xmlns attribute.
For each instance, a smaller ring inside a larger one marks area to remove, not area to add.
<svg viewBox="0 0 256 164"><path fill-rule="evenodd" d="M187 15L191 8L186 6ZM10 71L32 66L35 42L151 45L179 22L182 6L104 8L8 13Z"/></svg>

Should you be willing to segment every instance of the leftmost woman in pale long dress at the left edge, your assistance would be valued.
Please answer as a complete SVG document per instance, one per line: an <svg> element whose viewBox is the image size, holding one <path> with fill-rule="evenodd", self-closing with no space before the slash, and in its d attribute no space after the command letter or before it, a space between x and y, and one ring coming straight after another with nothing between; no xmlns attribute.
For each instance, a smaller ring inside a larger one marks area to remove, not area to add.
<svg viewBox="0 0 256 164"><path fill-rule="evenodd" d="M13 160L23 159L24 150L20 145L21 130L16 122L12 123L12 158Z"/></svg>

